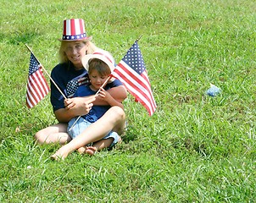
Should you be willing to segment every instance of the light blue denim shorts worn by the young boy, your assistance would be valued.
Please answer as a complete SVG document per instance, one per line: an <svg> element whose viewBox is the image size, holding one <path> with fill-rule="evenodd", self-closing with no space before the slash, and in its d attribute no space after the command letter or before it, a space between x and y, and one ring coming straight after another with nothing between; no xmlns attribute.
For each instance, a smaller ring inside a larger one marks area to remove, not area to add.
<svg viewBox="0 0 256 203"><path fill-rule="evenodd" d="M92 123L86 121L86 119L84 118L79 118L78 121L75 123L77 117L72 118L69 122L68 125L68 134L70 134L70 137L72 139L75 139L75 137L79 134L81 134L86 128L88 128ZM73 128L70 130L71 126L75 123L75 125L73 126ZM118 140L120 139L120 136L114 132L114 131L110 131L109 134L107 134L105 137L103 137L103 140L105 139L109 139L109 138L113 138L114 141L112 142L112 144L109 147L114 146Z"/></svg>

